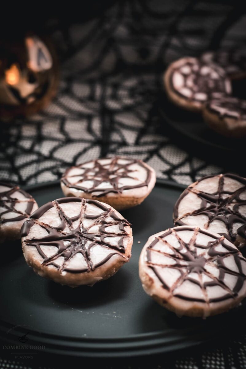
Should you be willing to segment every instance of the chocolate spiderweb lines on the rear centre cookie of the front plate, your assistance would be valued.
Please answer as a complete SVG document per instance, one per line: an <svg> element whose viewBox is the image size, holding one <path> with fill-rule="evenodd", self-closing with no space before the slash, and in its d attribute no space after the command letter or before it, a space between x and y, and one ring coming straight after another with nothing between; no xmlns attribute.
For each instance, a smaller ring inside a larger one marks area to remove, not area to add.
<svg viewBox="0 0 246 369"><path fill-rule="evenodd" d="M124 163L122 164L120 163L120 161L124 161ZM93 163L93 168L91 168L91 166L87 166L88 163L84 163L78 165L77 167L68 169L62 177L61 181L69 188L84 191L85 193L91 193L93 194L93 196L96 197L106 196L109 193L122 193L124 190L145 187L148 186L150 182L150 169L148 169L141 160L127 159L117 156L112 159L98 159L95 160ZM131 169L131 166L133 164L137 164L138 166L145 169L146 179L144 180L144 182L139 183L140 180L131 175L131 173L133 172L136 173L136 168ZM83 171L80 172L80 174L76 172L74 175L69 175L70 170L73 170L75 168L82 169ZM71 182L68 180L68 178L72 179L73 177L78 176L81 177L81 179L73 184L71 184ZM121 179L129 179L131 180L131 182L134 179L138 183L120 186L119 181ZM90 188L84 187L83 183L85 181L91 181L93 183L92 186ZM105 182L109 183L110 187L100 188L99 186ZM94 192L96 192L96 194L94 194Z"/></svg>

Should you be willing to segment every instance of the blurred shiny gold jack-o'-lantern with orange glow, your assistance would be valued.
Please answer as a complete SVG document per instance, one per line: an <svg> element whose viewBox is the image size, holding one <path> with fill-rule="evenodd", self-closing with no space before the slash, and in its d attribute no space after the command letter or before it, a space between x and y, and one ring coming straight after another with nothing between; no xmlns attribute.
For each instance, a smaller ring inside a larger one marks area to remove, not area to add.
<svg viewBox="0 0 246 369"><path fill-rule="evenodd" d="M56 93L57 57L52 44L36 35L0 42L0 116L27 116Z"/></svg>

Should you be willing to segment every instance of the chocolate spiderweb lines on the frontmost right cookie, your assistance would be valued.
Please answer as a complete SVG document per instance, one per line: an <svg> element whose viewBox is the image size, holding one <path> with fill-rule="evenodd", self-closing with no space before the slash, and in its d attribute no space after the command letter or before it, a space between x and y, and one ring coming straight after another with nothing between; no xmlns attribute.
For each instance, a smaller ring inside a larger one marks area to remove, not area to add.
<svg viewBox="0 0 246 369"><path fill-rule="evenodd" d="M181 238L183 231L192 232L189 242L185 242ZM181 232L180 236L179 232ZM209 236L214 241L203 242L205 245L199 244L197 242L197 236L199 234L200 236L204 235L203 237ZM176 238L178 246L176 242L172 243L169 239L165 239L170 235ZM155 249L158 242L161 242L165 251L161 250L161 246ZM164 256L166 263L162 264L152 261L153 253ZM229 267L231 265L230 262L226 263L226 259L229 258L234 259L238 271L235 271L233 266L231 268ZM163 288L170 293L169 299L175 296L184 300L210 304L212 302L235 298L242 289L246 277L242 270L242 262L245 262L245 258L243 258L238 249L225 242L224 236L216 237L210 234L210 232L195 227L169 229L164 234L155 238L147 248L147 265L161 281ZM168 277L162 275L162 269L165 268L169 270L175 269L179 272L171 286L168 283ZM218 270L218 273L213 273L215 268ZM194 273L196 273L197 277L195 277ZM233 288L229 287L228 275L232 280L236 277ZM186 294L190 288L187 285L182 288L182 285L187 282L199 286L203 297L200 296L200 293L197 296ZM214 286L221 287L224 290L223 294L217 297L210 296L208 289Z"/></svg>

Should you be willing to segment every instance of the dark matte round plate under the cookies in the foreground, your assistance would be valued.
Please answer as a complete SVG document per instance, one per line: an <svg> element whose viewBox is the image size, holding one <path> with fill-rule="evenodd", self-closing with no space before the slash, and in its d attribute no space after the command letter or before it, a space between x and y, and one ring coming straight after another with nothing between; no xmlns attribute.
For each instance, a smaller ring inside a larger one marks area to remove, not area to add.
<svg viewBox="0 0 246 369"><path fill-rule="evenodd" d="M25 345L60 355L126 357L173 351L231 335L237 326L244 329L244 304L207 320L178 318L142 289L141 249L150 235L172 226L173 205L182 190L159 183L143 204L122 212L132 223L132 258L94 287L71 289L39 277L25 263L19 241L1 245L1 341L20 345L28 339ZM29 191L39 205L62 197L58 184Z"/></svg>

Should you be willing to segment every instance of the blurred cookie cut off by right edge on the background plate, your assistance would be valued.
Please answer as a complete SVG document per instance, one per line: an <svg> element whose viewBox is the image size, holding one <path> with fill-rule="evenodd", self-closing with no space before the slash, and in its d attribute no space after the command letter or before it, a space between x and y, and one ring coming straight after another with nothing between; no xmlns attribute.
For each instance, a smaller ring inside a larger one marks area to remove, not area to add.
<svg viewBox="0 0 246 369"><path fill-rule="evenodd" d="M246 100L230 96L209 100L203 107L203 118L212 130L224 136L246 136Z"/></svg>

